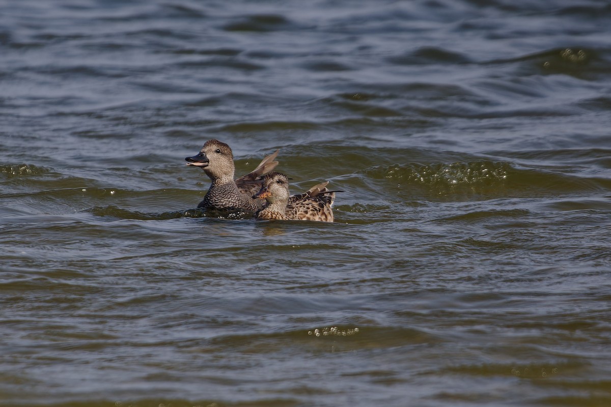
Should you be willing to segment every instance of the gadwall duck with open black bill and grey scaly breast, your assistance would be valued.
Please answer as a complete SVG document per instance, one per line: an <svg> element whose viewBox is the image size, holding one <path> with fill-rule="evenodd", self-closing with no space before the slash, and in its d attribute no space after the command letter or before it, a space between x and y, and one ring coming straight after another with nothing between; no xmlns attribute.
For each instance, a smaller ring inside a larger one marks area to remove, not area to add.
<svg viewBox="0 0 611 407"><path fill-rule="evenodd" d="M276 168L278 150L265 157L251 173L233 179L235 165L231 148L219 140L208 140L199 154L186 157L187 165L200 167L212 181L210 189L197 205L202 209L257 211L265 206L263 198L252 198L263 185L260 177Z"/></svg>

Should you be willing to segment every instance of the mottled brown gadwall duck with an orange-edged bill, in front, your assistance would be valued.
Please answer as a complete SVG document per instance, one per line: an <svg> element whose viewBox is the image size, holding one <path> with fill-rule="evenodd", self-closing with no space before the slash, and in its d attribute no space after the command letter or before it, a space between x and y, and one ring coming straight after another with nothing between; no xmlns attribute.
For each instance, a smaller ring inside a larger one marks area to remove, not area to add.
<svg viewBox="0 0 611 407"><path fill-rule="evenodd" d="M272 171L262 176L263 186L252 198L265 198L267 204L255 213L258 219L318 220L333 222L335 192L326 189L329 181L314 185L307 192L290 196L288 178Z"/></svg>

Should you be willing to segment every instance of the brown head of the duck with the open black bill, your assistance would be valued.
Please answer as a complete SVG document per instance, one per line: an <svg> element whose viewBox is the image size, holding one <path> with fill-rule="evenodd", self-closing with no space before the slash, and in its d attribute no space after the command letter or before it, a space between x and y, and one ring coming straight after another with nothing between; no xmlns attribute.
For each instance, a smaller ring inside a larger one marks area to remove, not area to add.
<svg viewBox="0 0 611 407"><path fill-rule="evenodd" d="M185 158L187 165L200 167L213 181L233 181L235 166L231 148L219 140L208 140L199 151L199 154Z"/></svg>

